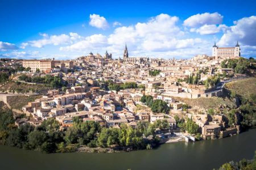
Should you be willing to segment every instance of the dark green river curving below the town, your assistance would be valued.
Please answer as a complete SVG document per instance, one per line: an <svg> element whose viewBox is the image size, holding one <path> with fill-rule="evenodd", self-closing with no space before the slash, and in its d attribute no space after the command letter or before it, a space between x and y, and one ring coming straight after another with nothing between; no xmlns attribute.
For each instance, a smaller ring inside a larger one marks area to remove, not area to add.
<svg viewBox="0 0 256 170"><path fill-rule="evenodd" d="M255 128L229 138L114 154L42 154L0 146L0 169L213 169L230 160L252 159L255 150Z"/></svg>

